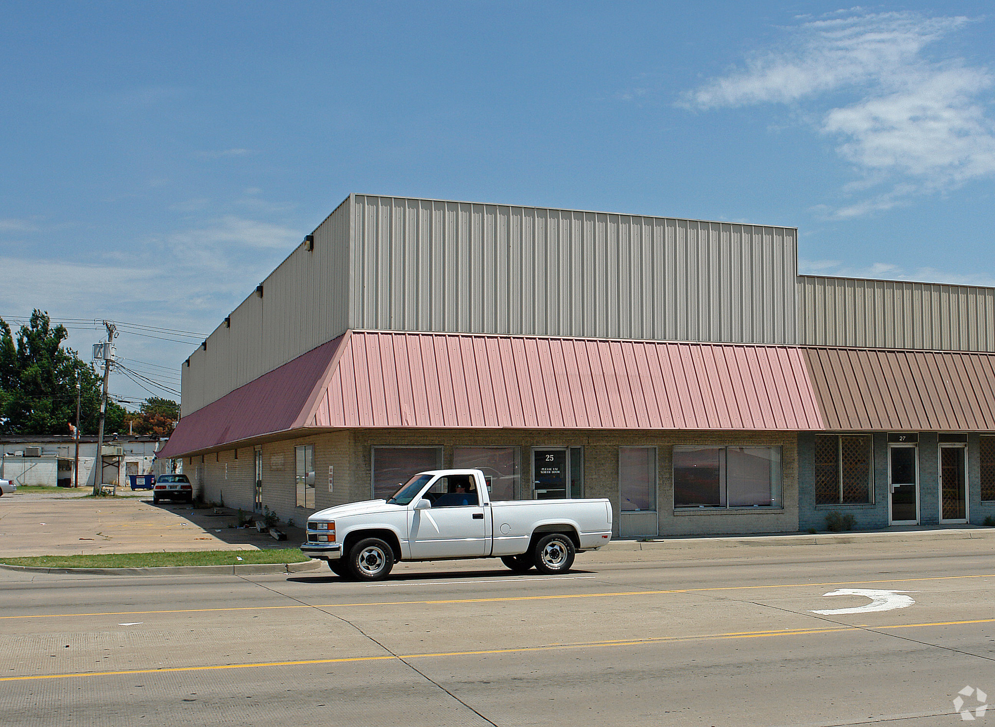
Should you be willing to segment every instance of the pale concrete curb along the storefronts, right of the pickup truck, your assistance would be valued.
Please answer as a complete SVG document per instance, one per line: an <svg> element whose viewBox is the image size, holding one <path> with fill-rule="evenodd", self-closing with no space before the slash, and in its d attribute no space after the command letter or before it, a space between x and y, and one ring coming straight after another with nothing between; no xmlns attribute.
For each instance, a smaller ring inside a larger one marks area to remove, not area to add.
<svg viewBox="0 0 995 727"><path fill-rule="evenodd" d="M904 543L922 540L991 540L995 538L995 528L950 529L929 531L898 531L886 533L874 531L869 533L818 533L816 535L761 535L761 536L713 536L711 538L681 538L671 540L656 539L649 541L613 540L601 548L601 552L610 551L658 551L681 550L713 546L717 548L739 547L776 547L776 546L812 546L812 545L845 545L854 543Z"/></svg>

